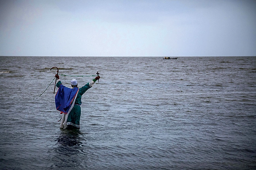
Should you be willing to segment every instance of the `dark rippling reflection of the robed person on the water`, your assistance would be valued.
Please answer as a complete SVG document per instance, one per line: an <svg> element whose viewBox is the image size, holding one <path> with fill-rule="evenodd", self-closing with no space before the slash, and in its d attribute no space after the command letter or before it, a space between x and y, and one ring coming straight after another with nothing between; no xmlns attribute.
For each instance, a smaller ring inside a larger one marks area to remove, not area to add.
<svg viewBox="0 0 256 170"><path fill-rule="evenodd" d="M82 162L86 161L87 158L81 153L83 152L83 142L85 139L79 129L60 129L60 134L56 139L56 147L53 150L54 156L52 157L53 168L75 168L79 166L81 168Z"/></svg>

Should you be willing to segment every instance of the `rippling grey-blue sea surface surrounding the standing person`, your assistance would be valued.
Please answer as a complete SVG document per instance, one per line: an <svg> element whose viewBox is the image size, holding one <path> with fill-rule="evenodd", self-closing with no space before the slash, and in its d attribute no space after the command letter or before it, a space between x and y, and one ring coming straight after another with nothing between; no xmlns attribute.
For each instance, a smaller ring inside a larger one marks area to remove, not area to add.
<svg viewBox="0 0 256 170"><path fill-rule="evenodd" d="M256 169L256 57L162 58L1 56L0 169ZM54 66L100 73L80 129L59 128Z"/></svg>

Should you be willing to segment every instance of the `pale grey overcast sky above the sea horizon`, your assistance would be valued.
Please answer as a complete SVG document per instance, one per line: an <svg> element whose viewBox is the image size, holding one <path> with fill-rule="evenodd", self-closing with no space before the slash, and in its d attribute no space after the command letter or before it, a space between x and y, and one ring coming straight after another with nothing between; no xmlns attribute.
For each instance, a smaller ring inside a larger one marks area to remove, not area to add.
<svg viewBox="0 0 256 170"><path fill-rule="evenodd" d="M0 55L256 56L256 0L0 0Z"/></svg>

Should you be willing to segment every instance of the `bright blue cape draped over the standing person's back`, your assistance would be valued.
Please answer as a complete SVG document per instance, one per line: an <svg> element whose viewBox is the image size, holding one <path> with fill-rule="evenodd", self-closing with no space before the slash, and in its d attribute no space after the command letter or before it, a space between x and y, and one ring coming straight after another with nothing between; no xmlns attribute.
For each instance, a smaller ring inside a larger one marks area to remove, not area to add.
<svg viewBox="0 0 256 170"><path fill-rule="evenodd" d="M72 102L75 102L76 100L78 90L78 88L68 88L60 84L55 95L56 109L67 114L70 108L73 106Z"/></svg>

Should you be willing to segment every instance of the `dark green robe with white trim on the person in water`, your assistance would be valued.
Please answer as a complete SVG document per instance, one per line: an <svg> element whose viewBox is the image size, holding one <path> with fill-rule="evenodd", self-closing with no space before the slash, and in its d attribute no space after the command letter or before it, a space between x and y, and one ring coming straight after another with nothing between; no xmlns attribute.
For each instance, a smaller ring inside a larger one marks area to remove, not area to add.
<svg viewBox="0 0 256 170"><path fill-rule="evenodd" d="M56 83L56 87L59 88L60 84L62 84L62 82L58 80L58 82ZM80 117L81 117L80 105L82 104L82 95L89 88L91 88L93 84L94 84L94 81L92 81L91 83L87 83L83 87L79 88L74 107L72 108L72 110L68 115L65 115L64 113L62 115L62 123L60 124L60 128L67 128L67 127L71 128L71 126L73 128L80 128ZM74 87L74 88L77 88L77 87ZM66 118L66 116L68 117ZM65 119L66 119L66 122L64 122Z"/></svg>

